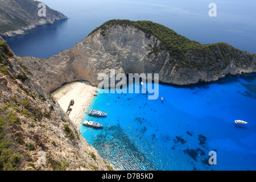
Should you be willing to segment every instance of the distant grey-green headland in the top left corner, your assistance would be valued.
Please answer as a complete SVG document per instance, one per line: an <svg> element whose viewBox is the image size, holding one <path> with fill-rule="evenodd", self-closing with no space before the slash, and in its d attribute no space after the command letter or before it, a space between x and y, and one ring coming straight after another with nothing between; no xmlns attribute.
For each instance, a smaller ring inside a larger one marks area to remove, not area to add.
<svg viewBox="0 0 256 182"><path fill-rule="evenodd" d="M39 1L33 0L1 0L0 1L0 35L15 36L25 34L27 30L53 24L57 20L68 19L59 11L46 6L46 16L39 16ZM41 12L41 11L40 11Z"/></svg>

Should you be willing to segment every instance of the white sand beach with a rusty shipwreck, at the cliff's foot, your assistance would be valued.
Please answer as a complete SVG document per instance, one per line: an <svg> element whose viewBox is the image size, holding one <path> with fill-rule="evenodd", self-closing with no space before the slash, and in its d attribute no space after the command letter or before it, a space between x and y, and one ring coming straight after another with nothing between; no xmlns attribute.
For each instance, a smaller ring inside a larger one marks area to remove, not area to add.
<svg viewBox="0 0 256 182"><path fill-rule="evenodd" d="M94 97L93 94L97 90L96 86L92 86L88 81L75 81L62 86L52 93L61 108L66 112L69 102L74 100L75 104L70 106L72 108L69 118L73 125L79 127L85 110L87 109L90 101Z"/></svg>

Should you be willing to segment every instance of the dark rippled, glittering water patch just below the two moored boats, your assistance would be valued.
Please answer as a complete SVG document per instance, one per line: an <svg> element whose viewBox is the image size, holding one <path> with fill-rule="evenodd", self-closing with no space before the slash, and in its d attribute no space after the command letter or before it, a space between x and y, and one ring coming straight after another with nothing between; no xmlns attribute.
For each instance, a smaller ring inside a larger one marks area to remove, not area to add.
<svg viewBox="0 0 256 182"><path fill-rule="evenodd" d="M106 126L104 131L105 133L102 132L97 135L92 146L97 148L100 155L106 160L109 162L118 161L118 165L122 166L124 170L158 170L146 158L146 155L138 150L120 125Z"/></svg>

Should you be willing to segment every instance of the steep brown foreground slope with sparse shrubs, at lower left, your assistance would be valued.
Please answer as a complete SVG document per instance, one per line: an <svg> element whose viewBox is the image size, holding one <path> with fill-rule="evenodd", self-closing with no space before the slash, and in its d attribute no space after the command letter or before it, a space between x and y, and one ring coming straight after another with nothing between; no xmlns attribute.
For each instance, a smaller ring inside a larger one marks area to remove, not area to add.
<svg viewBox="0 0 256 182"><path fill-rule="evenodd" d="M0 36L0 170L109 169Z"/></svg>

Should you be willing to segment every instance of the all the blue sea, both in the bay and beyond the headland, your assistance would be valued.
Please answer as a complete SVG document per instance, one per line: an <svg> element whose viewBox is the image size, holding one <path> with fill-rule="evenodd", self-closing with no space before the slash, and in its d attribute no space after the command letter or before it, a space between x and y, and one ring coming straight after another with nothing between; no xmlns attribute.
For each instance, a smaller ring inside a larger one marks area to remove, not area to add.
<svg viewBox="0 0 256 182"><path fill-rule="evenodd" d="M110 19L151 20L199 43L226 42L256 53L254 0L42 0L68 16L26 35L5 38L16 55L46 58L73 47ZM164 97L163 102L160 97ZM256 170L256 75L187 87L159 84L148 94L99 94L89 109L108 113L102 129L80 126L84 138L119 170ZM88 111L87 111L88 112ZM235 119L249 122L236 125ZM217 164L208 154L216 151Z"/></svg>

